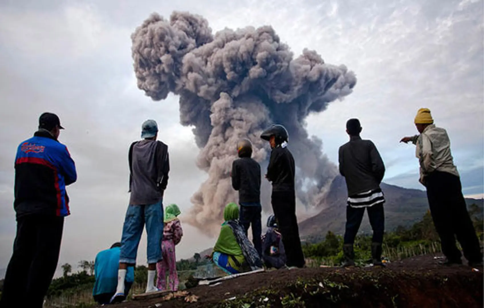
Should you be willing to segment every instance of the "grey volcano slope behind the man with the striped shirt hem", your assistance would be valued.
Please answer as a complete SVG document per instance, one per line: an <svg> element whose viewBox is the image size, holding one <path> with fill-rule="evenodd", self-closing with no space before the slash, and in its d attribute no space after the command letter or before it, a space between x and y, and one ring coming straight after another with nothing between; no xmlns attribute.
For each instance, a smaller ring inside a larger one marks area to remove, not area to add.
<svg viewBox="0 0 484 308"><path fill-rule="evenodd" d="M397 226L411 226L419 221L428 209L427 194L422 190L407 189L395 185L381 184L385 194L385 230L394 230ZM326 197L326 208L318 215L308 218L299 224L301 237L308 241L324 238L328 231L343 234L346 222L346 182L337 176L331 184ZM483 205L483 200L466 199L467 204ZM360 232L371 232L368 216L365 214Z"/></svg>

